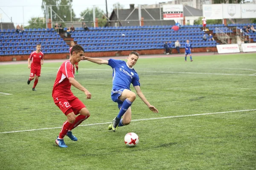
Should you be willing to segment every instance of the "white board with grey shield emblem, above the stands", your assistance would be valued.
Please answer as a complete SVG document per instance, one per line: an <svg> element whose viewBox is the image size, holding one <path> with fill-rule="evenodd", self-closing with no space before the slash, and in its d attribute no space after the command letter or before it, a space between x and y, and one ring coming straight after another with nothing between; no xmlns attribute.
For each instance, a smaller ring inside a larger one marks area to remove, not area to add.
<svg viewBox="0 0 256 170"><path fill-rule="evenodd" d="M223 4L223 18L241 18L241 4Z"/></svg>

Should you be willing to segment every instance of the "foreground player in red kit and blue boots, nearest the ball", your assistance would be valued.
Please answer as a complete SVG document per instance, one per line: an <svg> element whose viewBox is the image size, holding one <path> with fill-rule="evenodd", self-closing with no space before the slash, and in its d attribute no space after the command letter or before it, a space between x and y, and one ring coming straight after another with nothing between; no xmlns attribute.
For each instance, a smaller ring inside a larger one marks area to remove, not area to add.
<svg viewBox="0 0 256 170"><path fill-rule="evenodd" d="M64 142L64 136L67 135L71 140L77 141L76 136L73 136L71 130L77 127L81 122L90 116L88 109L71 91L71 85L83 91L87 99L91 98L91 94L75 80L74 64L83 59L84 48L81 45L74 45L70 51L70 59L63 62L58 69L55 79L52 97L55 105L67 116L67 121L64 122L61 132L55 143L59 147L67 147ZM78 115L79 116L76 116Z"/></svg>

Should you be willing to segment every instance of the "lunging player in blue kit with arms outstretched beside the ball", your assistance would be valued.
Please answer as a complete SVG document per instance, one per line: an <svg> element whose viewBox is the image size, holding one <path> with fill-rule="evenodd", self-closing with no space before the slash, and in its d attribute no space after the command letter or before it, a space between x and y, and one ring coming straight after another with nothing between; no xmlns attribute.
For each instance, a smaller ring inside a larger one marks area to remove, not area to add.
<svg viewBox="0 0 256 170"><path fill-rule="evenodd" d="M111 99L117 102L119 113L113 119L108 130L116 131L118 126L129 125L131 122L131 104L136 99L136 94L130 90L130 85L133 84L137 95L154 113L158 113L157 108L150 105L144 94L140 90L140 79L133 66L136 64L139 54L132 51L127 57L127 62L117 59L98 59L84 57L84 60L94 62L96 64L106 64L113 68L113 87L111 91Z"/></svg>

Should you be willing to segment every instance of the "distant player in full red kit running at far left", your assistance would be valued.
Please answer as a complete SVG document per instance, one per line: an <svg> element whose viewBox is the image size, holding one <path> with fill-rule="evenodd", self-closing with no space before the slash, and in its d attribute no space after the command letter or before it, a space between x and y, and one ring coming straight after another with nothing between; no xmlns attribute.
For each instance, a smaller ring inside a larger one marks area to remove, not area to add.
<svg viewBox="0 0 256 170"><path fill-rule="evenodd" d="M30 63L31 62L31 63ZM41 44L36 45L36 51L33 51L28 59L28 68L30 69L30 76L28 80L28 85L30 81L35 78L34 86L32 91L35 90L35 86L38 83L38 79L41 75L41 65L44 64L44 53L41 52Z"/></svg>

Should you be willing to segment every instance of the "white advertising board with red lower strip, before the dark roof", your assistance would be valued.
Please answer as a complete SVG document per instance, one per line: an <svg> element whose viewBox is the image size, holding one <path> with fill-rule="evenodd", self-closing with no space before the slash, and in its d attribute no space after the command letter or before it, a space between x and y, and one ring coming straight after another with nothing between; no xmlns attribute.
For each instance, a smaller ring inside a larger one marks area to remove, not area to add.
<svg viewBox="0 0 256 170"><path fill-rule="evenodd" d="M183 5L163 5L163 20L183 20Z"/></svg>

